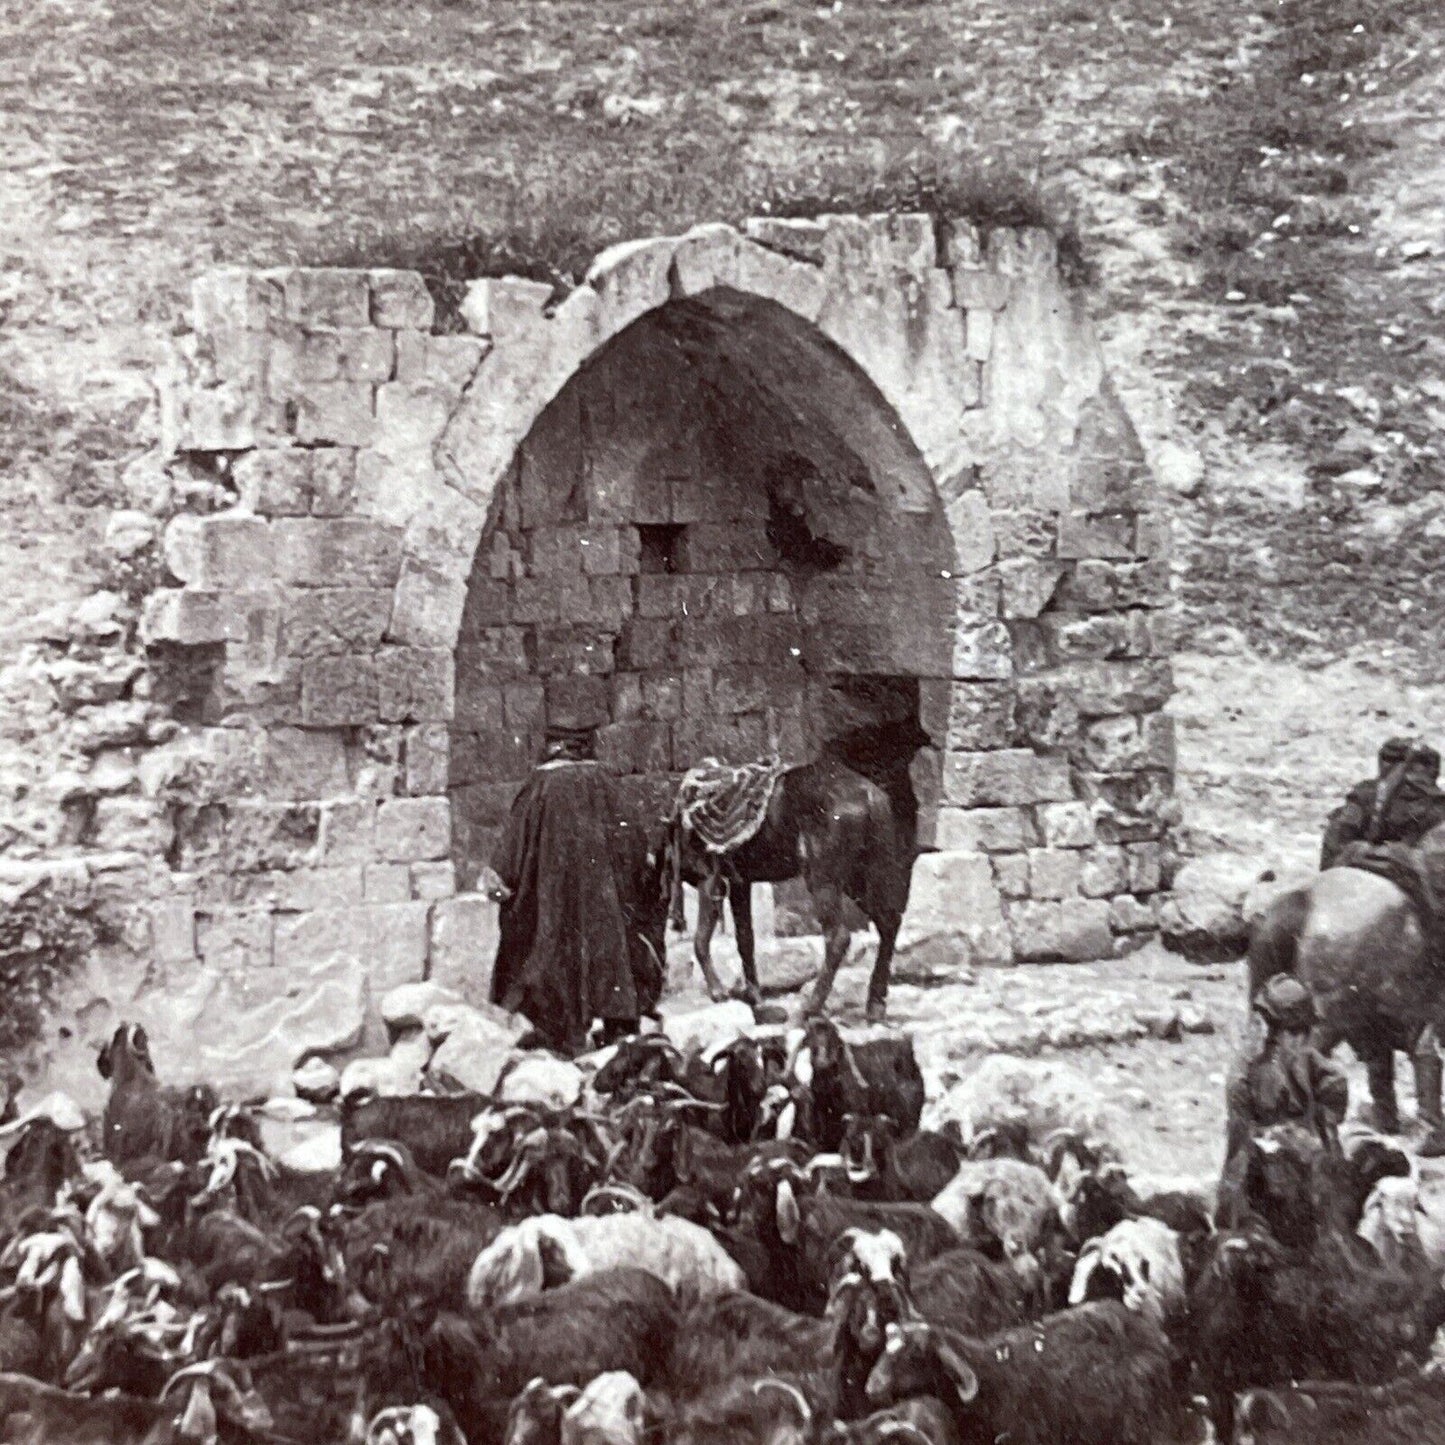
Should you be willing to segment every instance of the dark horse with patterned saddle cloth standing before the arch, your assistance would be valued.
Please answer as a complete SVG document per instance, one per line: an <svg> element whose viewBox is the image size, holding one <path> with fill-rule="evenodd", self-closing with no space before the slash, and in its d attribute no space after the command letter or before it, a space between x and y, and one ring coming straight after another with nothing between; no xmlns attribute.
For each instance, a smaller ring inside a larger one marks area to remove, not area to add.
<svg viewBox="0 0 1445 1445"><path fill-rule="evenodd" d="M722 900L727 899L733 913L743 961L738 996L757 1003L753 884L801 877L824 936L824 965L814 981L806 1013L822 1012L848 951L847 899L879 931L867 1016L870 1022L883 1017L913 861L925 851L918 845L918 802L907 763L922 746L919 737L928 741L928 736L915 728L899 733L893 727L886 734L870 730L861 743L855 738L851 749L835 744L809 763L785 769L757 832L727 854L708 853L681 819L668 821L660 887L670 896L675 920L681 918L678 883L691 883L698 890L692 951L711 998L725 997L711 958ZM889 737L892 754L884 753L880 760L877 744L883 736ZM860 762L860 754L867 762Z"/></svg>

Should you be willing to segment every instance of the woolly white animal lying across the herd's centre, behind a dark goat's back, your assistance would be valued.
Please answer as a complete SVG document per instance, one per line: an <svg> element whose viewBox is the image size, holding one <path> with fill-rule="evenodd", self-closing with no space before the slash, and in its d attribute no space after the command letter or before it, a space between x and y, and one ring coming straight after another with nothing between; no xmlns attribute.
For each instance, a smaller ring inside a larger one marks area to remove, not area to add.
<svg viewBox="0 0 1445 1445"><path fill-rule="evenodd" d="M468 1308L490 1309L542 1293L543 1254L559 1261L571 1279L621 1266L643 1269L683 1300L747 1287L737 1261L688 1220L646 1214L564 1220L540 1214L503 1230L477 1256L467 1279Z"/></svg>

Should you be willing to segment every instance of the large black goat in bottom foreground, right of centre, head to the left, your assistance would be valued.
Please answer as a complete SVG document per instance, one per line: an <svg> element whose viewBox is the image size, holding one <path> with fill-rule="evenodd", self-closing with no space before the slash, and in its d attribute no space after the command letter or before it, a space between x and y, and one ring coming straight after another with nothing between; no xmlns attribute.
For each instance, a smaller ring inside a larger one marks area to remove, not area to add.
<svg viewBox="0 0 1445 1445"><path fill-rule="evenodd" d="M936 1396L968 1445L1162 1445L1198 1433L1186 1370L1163 1331L1116 1300L987 1340L912 1321L887 1334L868 1397Z"/></svg>

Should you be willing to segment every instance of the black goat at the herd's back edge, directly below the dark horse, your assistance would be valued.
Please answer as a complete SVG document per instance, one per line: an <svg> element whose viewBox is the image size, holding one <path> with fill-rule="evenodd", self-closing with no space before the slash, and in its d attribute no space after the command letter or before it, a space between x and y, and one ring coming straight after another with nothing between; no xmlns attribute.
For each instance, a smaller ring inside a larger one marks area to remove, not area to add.
<svg viewBox="0 0 1445 1445"><path fill-rule="evenodd" d="M893 1120L899 1137L918 1129L925 1091L912 1039L848 1043L831 1019L814 1019L799 1055L802 1049L808 1049L812 1066L808 1131L819 1150L837 1153L848 1114L884 1114Z"/></svg>

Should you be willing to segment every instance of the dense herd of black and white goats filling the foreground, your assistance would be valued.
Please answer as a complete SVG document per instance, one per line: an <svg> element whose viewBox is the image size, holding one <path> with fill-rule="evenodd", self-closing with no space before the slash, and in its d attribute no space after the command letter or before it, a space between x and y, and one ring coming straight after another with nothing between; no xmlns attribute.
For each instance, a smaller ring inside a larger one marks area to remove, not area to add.
<svg viewBox="0 0 1445 1445"><path fill-rule="evenodd" d="M1445 1234L1377 1136L1261 1133L1225 1227L1075 1130L920 1129L907 1038L640 1035L569 1101L530 1058L351 1094L301 1173L123 1026L95 1147L13 1130L0 1441L1445 1439Z"/></svg>

